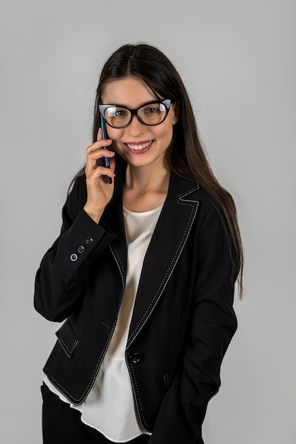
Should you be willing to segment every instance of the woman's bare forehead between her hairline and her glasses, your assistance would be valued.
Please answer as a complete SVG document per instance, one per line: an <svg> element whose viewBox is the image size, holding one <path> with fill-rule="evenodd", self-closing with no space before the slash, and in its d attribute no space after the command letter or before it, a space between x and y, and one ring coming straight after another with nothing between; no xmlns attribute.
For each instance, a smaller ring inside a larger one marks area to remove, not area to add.
<svg viewBox="0 0 296 444"><path fill-rule="evenodd" d="M120 104L129 108L158 99L148 85L139 77L123 77L106 84L103 91L103 104Z"/></svg>

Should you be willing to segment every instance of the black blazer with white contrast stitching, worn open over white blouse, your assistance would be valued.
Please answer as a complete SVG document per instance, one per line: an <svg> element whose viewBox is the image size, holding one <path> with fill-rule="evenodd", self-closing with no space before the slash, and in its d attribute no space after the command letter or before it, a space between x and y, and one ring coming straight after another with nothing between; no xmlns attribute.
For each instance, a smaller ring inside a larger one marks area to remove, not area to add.
<svg viewBox="0 0 296 444"><path fill-rule="evenodd" d="M35 280L35 309L64 321L45 374L73 404L86 399L113 334L125 289L123 176L100 223L83 210L85 177L63 209L59 238ZM224 217L196 182L171 173L127 339L125 359L151 444L203 443L207 402L237 329L232 309L235 256Z"/></svg>

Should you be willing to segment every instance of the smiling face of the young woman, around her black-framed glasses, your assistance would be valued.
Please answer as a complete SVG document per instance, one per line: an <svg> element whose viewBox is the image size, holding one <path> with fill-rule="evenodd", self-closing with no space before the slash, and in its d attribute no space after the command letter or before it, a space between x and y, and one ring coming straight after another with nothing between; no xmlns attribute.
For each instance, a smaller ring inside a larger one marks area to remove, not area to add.
<svg viewBox="0 0 296 444"><path fill-rule="evenodd" d="M124 77L110 82L103 94L103 104L120 104L130 109L137 109L154 100L159 98L137 77ZM147 126L141 123L137 116L132 116L132 121L125 128L112 128L107 125L108 137L113 140L115 151L130 165L164 165L164 154L171 143L173 125L177 121L175 107L171 104L166 119L159 125Z"/></svg>

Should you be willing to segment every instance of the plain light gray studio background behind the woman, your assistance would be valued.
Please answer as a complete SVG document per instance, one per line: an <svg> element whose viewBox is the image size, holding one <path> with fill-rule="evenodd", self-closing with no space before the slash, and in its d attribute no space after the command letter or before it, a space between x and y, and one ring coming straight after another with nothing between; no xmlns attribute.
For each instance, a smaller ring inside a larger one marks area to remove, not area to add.
<svg viewBox="0 0 296 444"><path fill-rule="evenodd" d="M246 254L239 330L206 444L295 444L295 0L1 0L1 443L41 443L41 369L57 324L33 284L91 143L98 72L123 43L168 55Z"/></svg>

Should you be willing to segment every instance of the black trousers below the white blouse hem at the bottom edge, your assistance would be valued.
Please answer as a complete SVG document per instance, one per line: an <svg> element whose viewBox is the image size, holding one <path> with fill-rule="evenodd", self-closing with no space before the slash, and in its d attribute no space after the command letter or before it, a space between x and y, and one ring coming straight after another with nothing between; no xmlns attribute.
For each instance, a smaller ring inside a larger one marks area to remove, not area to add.
<svg viewBox="0 0 296 444"><path fill-rule="evenodd" d="M46 384L41 387L43 444L112 444L95 428L86 426L80 412L61 401ZM141 435L128 444L148 443L149 435ZM113 443L114 444L114 443Z"/></svg>

